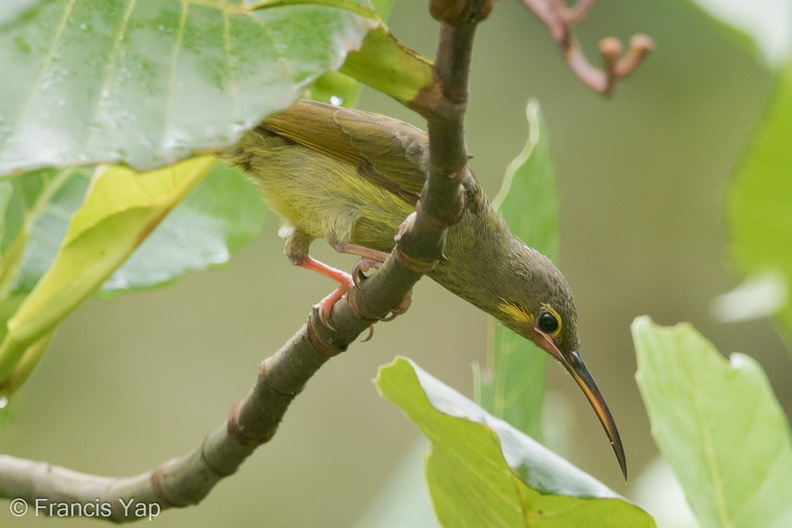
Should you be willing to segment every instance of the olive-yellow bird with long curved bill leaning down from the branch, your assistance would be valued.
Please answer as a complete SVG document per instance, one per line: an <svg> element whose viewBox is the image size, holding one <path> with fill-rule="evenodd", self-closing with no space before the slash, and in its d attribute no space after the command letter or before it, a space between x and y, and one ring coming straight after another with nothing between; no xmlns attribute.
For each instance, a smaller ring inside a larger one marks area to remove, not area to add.
<svg viewBox="0 0 792 528"><path fill-rule="evenodd" d="M340 284L320 301L327 313L353 287L350 275L313 259L312 241L376 267L415 210L429 174L429 139L403 121L300 100L248 131L223 157L245 173L284 221L292 264ZM428 273L558 360L582 389L610 440L624 478L619 431L580 355L572 291L553 262L509 230L469 168L465 210L447 230L445 258Z"/></svg>

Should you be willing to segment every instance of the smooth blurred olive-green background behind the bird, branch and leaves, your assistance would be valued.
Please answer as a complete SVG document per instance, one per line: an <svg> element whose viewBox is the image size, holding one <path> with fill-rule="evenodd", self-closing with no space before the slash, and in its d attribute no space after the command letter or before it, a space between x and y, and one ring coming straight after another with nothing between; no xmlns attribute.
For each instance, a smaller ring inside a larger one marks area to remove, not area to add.
<svg viewBox="0 0 792 528"><path fill-rule="evenodd" d="M406 45L434 55L437 27L424 4L396 2L389 25ZM650 35L656 50L603 99L568 72L527 10L499 2L479 29L467 117L471 166L493 196L524 143L527 98L542 106L560 193L560 267L575 291L583 354L619 424L633 482L656 455L634 381L635 316L690 321L723 352L755 357L787 414L792 410L785 382L792 367L772 324L723 324L710 313L712 299L738 282L726 262L722 202L770 93L770 74L684 1L601 2L578 26L595 62L600 38L636 32ZM373 91L364 90L360 106L423 126ZM276 231L270 215L262 236L223 270L82 306L16 396L0 449L123 475L197 445L247 391L261 359L333 287L290 266ZM321 242L315 255L353 263ZM428 279L413 299L405 316L377 325L372 341L322 369L239 474L200 507L163 513L158 526L353 525L419 436L377 396L377 366L407 355L472 395L471 363L485 360L483 313ZM560 366L551 370L548 419L569 435L551 447L629 495L579 389ZM53 521L14 520L45 524Z"/></svg>

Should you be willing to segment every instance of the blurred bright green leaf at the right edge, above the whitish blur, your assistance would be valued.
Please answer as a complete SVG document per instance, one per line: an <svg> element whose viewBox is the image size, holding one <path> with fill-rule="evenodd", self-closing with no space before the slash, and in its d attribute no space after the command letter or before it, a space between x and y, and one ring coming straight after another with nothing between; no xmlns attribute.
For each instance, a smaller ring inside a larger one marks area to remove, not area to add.
<svg viewBox="0 0 792 528"><path fill-rule="evenodd" d="M730 253L744 274L774 276L792 298L792 63L778 77L766 114L730 184L726 210ZM781 321L792 337L792 304Z"/></svg>

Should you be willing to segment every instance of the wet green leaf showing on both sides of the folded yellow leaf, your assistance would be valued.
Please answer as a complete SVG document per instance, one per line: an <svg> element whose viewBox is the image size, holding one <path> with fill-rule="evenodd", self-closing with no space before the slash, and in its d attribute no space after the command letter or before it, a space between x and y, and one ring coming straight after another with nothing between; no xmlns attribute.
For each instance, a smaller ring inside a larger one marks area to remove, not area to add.
<svg viewBox="0 0 792 528"><path fill-rule="evenodd" d="M52 265L90 174L88 168L41 169L0 181L0 301L30 293ZM2 189L8 189L5 201ZM188 271L225 264L259 233L265 214L256 188L218 163L100 293L162 286Z"/></svg>

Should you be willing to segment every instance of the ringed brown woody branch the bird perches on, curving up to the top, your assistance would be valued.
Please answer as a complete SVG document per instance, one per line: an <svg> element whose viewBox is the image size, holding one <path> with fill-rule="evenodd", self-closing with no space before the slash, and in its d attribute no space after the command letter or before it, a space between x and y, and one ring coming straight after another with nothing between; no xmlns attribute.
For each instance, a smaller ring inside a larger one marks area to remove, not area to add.
<svg viewBox="0 0 792 528"><path fill-rule="evenodd" d="M432 15L441 22L435 84L427 88L427 93L435 95L421 111L429 123L431 175L419 209L405 222L391 257L349 292L346 303L333 307L333 328L323 324L314 310L308 322L262 362L255 385L228 419L189 453L131 477L89 475L2 455L0 496L28 501L46 498L69 505L99 501L111 508L100 519L131 522L141 517L123 504L132 500L163 510L198 504L274 436L289 404L319 368L387 315L441 258L445 230L458 221L463 206L460 182L467 154L462 122L470 50L476 24L486 18L493 1L430 2Z"/></svg>

